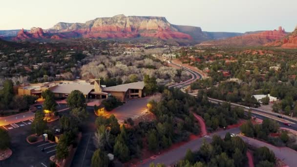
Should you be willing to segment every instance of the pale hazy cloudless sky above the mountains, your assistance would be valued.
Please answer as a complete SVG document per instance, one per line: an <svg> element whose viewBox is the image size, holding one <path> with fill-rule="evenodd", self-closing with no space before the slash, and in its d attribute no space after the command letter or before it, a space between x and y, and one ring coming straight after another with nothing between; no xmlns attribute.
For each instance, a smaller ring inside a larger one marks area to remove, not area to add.
<svg viewBox="0 0 297 167"><path fill-rule="evenodd" d="M164 16L203 31L246 32L297 25L297 0L1 0L0 30L50 28L98 17Z"/></svg>

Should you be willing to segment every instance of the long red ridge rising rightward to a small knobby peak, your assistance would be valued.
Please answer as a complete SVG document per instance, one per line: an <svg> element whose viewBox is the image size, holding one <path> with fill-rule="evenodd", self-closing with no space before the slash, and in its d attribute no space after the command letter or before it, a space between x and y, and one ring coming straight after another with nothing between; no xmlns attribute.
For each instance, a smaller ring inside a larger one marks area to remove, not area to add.
<svg viewBox="0 0 297 167"><path fill-rule="evenodd" d="M225 40L215 40L202 42L199 45L217 45L217 46L259 46L269 42L274 42L285 37L287 33L282 27L273 31L259 31L258 33L249 32L242 36L232 37Z"/></svg>

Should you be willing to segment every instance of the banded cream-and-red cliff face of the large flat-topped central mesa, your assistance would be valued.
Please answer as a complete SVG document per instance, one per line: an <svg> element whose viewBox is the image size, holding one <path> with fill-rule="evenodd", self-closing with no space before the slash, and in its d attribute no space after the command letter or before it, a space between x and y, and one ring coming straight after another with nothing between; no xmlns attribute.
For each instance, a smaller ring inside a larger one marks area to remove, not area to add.
<svg viewBox="0 0 297 167"><path fill-rule="evenodd" d="M136 38L192 39L179 32L164 17L140 17L117 15L97 18L85 23L59 22L46 30L49 33L76 32L83 38Z"/></svg>

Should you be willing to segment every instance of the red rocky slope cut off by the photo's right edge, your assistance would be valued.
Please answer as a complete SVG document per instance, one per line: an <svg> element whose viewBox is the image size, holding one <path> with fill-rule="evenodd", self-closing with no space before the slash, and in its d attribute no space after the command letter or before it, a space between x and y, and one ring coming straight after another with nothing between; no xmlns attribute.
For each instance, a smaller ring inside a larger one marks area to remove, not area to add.
<svg viewBox="0 0 297 167"><path fill-rule="evenodd" d="M297 27L282 39L265 44L265 46L280 46L282 48L297 48Z"/></svg>

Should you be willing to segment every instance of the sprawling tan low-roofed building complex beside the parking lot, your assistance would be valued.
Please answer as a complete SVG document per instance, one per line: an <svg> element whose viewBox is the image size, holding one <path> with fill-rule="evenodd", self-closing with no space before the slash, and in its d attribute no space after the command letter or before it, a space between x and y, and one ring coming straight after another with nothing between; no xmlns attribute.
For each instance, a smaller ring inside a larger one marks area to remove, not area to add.
<svg viewBox="0 0 297 167"><path fill-rule="evenodd" d="M108 96L114 96L119 101L124 102L127 99L142 97L144 86L144 82L136 82L106 87L105 85L100 85L100 80L88 79L23 84L15 86L14 90L19 96L37 95L41 97L42 92L49 89L55 94L57 99L67 98L73 90L79 90L87 99L105 99Z"/></svg>

